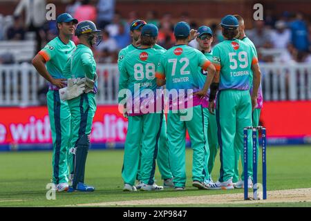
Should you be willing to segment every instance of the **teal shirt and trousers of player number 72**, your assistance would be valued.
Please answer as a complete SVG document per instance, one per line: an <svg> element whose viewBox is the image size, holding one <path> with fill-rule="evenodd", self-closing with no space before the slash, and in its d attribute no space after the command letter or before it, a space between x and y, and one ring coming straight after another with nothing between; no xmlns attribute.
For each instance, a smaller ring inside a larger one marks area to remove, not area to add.
<svg viewBox="0 0 311 221"><path fill-rule="evenodd" d="M171 93L176 90L178 97L185 95L185 90L196 91L200 89L198 67L206 70L211 64L206 57L194 48L187 45L173 46L164 53L157 68L156 77L166 79L166 87ZM173 97L169 97L174 102ZM186 97L181 97L186 98ZM180 102L180 99L178 99ZM209 177L205 169L205 145L207 133L205 133L205 115L203 114L201 100L177 113L169 111L167 115L167 136L169 140L169 162L176 187L184 187L186 183L185 172L185 135L189 132L191 148L194 150L192 179L203 182L205 176ZM179 108L179 106L178 106ZM173 108L170 109L172 110ZM184 113L185 112L185 113ZM181 120L183 116L191 116Z"/></svg>

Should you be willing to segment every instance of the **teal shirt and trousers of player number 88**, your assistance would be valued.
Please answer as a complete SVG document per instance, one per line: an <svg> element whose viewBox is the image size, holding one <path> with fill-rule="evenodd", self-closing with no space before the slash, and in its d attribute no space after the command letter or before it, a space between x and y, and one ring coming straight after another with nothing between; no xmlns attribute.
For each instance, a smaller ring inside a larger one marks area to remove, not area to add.
<svg viewBox="0 0 311 221"><path fill-rule="evenodd" d="M142 111L140 104L147 102L151 106L154 99L143 99L145 90L149 90L156 95L156 65L164 50L155 48L138 48L128 52L124 57L119 79L119 91L129 90L131 97L127 100L133 102L133 106L126 104L129 115L129 129L126 134L124 146L124 161L122 168L122 178L124 183L133 185L140 166L140 181L144 184L154 183L154 172L156 167L156 157L158 155L158 142L164 115L162 108L155 113ZM162 95L159 97L162 99ZM119 102L123 97L119 97ZM138 103L134 103L138 100ZM138 106L136 112L134 107ZM139 157L141 152L140 165Z"/></svg>

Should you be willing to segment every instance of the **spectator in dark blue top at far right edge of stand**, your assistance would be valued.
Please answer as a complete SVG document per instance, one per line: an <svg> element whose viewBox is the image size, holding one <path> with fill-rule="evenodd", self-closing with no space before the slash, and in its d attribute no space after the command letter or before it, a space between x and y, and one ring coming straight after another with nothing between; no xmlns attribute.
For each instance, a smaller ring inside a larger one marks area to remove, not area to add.
<svg viewBox="0 0 311 221"><path fill-rule="evenodd" d="M308 28L305 21L303 21L303 14L301 12L296 14L296 19L290 23L292 30L292 44L301 51L308 51Z"/></svg>

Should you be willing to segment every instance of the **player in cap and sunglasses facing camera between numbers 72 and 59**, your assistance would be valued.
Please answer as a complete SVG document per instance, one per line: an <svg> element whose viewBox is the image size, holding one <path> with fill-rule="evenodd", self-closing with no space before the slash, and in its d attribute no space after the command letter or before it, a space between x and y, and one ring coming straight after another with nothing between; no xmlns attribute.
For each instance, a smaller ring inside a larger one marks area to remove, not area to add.
<svg viewBox="0 0 311 221"><path fill-rule="evenodd" d="M196 38L196 41L198 41L198 50L200 50L205 57L209 60L213 60L213 52L211 51L211 43L213 42L213 32L211 31L211 28L207 26L200 26L198 28L198 32L200 33L198 37ZM207 71L203 70L201 67L198 68L199 77L200 77L200 88L202 89L206 77L208 75ZM207 93L207 98L209 97L209 91ZM203 113L206 117L206 129L207 131L207 150L205 151L205 169L209 171L207 175L209 177L205 177L204 181L205 184L209 184L210 182L213 182L211 179L211 170L214 167L215 158L218 151L218 138L217 138L217 124L216 124L216 116L209 113L208 106L203 106Z"/></svg>

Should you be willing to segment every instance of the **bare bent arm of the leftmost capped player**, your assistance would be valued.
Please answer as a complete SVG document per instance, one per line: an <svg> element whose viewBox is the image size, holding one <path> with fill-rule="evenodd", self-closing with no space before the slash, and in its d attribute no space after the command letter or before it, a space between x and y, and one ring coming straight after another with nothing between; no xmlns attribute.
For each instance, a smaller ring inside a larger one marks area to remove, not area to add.
<svg viewBox="0 0 311 221"><path fill-rule="evenodd" d="M50 84L57 86L58 88L64 88L64 82L66 79L54 79L46 70L46 61L42 55L36 55L32 59L32 65L36 68L37 72L44 77Z"/></svg>

